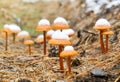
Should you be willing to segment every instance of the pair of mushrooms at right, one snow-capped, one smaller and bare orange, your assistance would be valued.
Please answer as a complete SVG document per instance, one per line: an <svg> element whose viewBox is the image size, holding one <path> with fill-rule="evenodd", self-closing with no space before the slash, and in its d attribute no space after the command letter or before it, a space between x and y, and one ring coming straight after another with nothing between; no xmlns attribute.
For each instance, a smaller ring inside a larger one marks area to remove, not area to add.
<svg viewBox="0 0 120 82"><path fill-rule="evenodd" d="M94 29L100 31L100 44L101 44L102 53L108 52L108 35L114 34L114 32L110 30L110 28L111 28L110 23L103 18L97 20L94 26ZM106 35L106 48L104 46L103 35Z"/></svg>

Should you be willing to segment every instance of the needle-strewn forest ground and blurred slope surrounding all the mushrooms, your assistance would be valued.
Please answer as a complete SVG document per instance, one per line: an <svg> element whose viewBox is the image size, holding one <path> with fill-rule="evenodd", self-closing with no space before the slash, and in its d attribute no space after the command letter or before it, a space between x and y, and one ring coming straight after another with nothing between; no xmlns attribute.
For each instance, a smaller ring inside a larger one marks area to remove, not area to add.
<svg viewBox="0 0 120 82"><path fill-rule="evenodd" d="M46 57L43 55L43 44L36 43L32 45L32 54L29 55L28 46L18 39L15 44L12 43L10 36L8 50L5 51L5 36L0 32L0 82L18 82L20 79L25 80L21 82L106 82L106 78L107 82L120 81L117 81L120 79L120 7L105 10L103 6L100 14L94 14L86 13L82 8L84 0L76 0L74 5L67 1L23 3L21 0L0 0L0 29L4 24L16 23L22 30L27 30L34 40L39 34L35 28L41 18L47 18L52 23L56 17L62 16L75 30L71 43L78 52L77 56L72 57L72 75L69 75L66 58L62 73L59 57L50 57L51 54L58 54L52 53L48 43ZM101 52L99 35L93 30L99 18L107 18L114 31L109 38L109 52L105 54ZM53 52L58 50L53 49ZM105 77L92 76L91 71L95 68L104 71Z"/></svg>

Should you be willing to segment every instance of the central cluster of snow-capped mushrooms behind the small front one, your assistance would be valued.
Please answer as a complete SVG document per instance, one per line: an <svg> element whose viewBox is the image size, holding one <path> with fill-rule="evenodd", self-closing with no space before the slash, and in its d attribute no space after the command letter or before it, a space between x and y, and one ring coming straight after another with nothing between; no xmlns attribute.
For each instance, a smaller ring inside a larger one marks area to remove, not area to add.
<svg viewBox="0 0 120 82"><path fill-rule="evenodd" d="M39 35L36 39L36 42L44 41L44 55L46 55L46 39L49 40L48 43L50 45L59 46L60 70L64 71L63 56L60 56L60 53L62 52L65 45L71 45L69 37L74 35L74 31L69 29L68 22L64 18L58 17L54 20L53 25L50 26L50 22L47 19L42 19L39 21L36 30L43 31L43 35ZM48 31L47 34L46 31Z"/></svg>

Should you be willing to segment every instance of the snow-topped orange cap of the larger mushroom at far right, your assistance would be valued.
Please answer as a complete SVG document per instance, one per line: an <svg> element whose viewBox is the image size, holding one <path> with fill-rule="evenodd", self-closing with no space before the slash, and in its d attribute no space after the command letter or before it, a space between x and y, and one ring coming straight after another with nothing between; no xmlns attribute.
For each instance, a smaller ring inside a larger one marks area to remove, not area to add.
<svg viewBox="0 0 120 82"><path fill-rule="evenodd" d="M106 19L101 18L101 19L97 20L97 22L93 28L96 30L104 30L104 29L111 28L111 25Z"/></svg>

